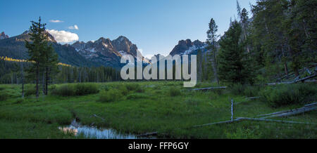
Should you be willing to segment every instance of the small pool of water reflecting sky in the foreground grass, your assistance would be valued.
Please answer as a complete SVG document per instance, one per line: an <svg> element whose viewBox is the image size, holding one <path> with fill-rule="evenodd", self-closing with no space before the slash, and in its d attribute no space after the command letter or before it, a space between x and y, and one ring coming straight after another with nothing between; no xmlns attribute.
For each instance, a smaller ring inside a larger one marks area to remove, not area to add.
<svg viewBox="0 0 317 153"><path fill-rule="evenodd" d="M111 128L95 128L80 126L73 121L70 126L58 127L64 133L73 133L75 136L83 135L85 138L96 139L138 139L136 135L122 134Z"/></svg>

